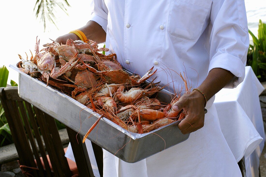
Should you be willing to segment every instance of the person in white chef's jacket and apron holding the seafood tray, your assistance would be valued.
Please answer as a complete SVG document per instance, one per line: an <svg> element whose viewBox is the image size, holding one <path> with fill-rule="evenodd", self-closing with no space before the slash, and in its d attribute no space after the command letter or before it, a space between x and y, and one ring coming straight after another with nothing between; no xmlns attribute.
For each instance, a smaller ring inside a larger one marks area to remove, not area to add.
<svg viewBox="0 0 266 177"><path fill-rule="evenodd" d="M92 18L79 34L56 41L106 42L123 68L143 75L155 66L154 77L172 91L184 85L177 73L185 72L193 90L174 106L186 113L178 125L190 133L186 141L136 163L103 150L104 176L241 176L213 101L220 89L236 87L245 76L244 0L93 0L92 6Z"/></svg>

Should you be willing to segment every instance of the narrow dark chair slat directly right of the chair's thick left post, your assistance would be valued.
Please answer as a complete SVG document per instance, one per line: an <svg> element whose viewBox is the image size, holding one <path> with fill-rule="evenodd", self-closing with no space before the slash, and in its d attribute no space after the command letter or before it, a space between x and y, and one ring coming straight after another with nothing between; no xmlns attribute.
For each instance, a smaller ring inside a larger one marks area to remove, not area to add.
<svg viewBox="0 0 266 177"><path fill-rule="evenodd" d="M25 125L25 129L26 129L28 138L29 138L30 143L31 143L33 154L34 154L36 162L38 164L40 176L44 176L43 165L41 164L40 156L39 156L39 153L38 153L38 149L37 149L37 146L36 146L36 143L35 143L34 136L33 136L32 132L31 132L30 123L28 121L28 116L26 114L26 110L25 110L23 101L18 101L18 105L19 105L19 110L20 110L21 115L22 115L22 119L24 121L24 125ZM30 112L30 111L32 111L32 110L28 110L28 112Z"/></svg>

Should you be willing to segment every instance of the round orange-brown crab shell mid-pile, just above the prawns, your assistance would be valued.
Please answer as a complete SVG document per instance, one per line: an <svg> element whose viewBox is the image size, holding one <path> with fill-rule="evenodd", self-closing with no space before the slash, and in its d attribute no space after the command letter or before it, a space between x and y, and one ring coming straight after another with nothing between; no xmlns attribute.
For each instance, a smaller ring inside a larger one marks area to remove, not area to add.
<svg viewBox="0 0 266 177"><path fill-rule="evenodd" d="M78 72L75 77L75 85L81 86L84 89L92 88L97 85L98 78L90 71L84 70Z"/></svg>

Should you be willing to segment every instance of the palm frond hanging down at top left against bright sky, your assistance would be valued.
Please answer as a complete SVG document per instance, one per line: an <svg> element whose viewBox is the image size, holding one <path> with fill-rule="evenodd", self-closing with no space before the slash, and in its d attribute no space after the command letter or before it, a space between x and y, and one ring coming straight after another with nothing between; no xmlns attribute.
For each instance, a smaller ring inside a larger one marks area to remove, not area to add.
<svg viewBox="0 0 266 177"><path fill-rule="evenodd" d="M41 15L40 21L43 22L44 31L46 28L47 19L56 26L55 24L56 16L54 12L57 7L59 7L64 13L68 15L68 13L66 12L65 5L70 6L67 0L61 0L61 1L37 0L36 1L35 6L34 6L35 16L36 18L38 18L39 15Z"/></svg>

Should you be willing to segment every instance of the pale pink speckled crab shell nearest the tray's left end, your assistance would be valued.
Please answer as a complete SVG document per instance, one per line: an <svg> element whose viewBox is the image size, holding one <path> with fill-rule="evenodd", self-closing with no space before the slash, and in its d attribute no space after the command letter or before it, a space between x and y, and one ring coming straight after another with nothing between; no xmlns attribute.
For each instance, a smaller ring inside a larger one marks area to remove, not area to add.
<svg viewBox="0 0 266 177"><path fill-rule="evenodd" d="M37 66L40 70L51 71L55 65L55 55L52 52L46 52L37 62Z"/></svg>

